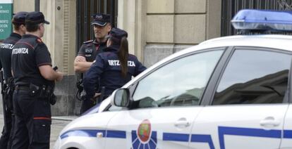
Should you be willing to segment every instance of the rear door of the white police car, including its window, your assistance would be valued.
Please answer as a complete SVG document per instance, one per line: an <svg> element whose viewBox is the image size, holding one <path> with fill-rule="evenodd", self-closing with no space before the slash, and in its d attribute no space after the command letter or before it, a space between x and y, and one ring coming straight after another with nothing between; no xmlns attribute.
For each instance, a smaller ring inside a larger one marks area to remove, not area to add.
<svg viewBox="0 0 292 149"><path fill-rule="evenodd" d="M291 54L236 48L224 67L212 104L195 119L190 148L279 148Z"/></svg>

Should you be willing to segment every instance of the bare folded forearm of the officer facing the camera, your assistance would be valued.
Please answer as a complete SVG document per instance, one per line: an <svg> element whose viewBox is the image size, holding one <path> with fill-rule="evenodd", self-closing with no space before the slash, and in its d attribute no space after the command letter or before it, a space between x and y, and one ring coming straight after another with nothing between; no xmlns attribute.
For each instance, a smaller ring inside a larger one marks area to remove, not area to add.
<svg viewBox="0 0 292 149"><path fill-rule="evenodd" d="M74 60L74 71L75 72L86 72L90 69L92 62L87 62L84 56L76 56Z"/></svg>

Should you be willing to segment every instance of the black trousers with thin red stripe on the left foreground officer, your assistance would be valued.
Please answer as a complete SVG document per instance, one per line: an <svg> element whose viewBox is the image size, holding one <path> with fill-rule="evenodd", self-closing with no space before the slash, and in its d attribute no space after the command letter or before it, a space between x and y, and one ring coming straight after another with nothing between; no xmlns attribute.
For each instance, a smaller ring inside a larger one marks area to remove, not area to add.
<svg viewBox="0 0 292 149"><path fill-rule="evenodd" d="M13 149L49 148L51 105L49 100L32 96L30 92L16 89L13 93L16 117Z"/></svg>

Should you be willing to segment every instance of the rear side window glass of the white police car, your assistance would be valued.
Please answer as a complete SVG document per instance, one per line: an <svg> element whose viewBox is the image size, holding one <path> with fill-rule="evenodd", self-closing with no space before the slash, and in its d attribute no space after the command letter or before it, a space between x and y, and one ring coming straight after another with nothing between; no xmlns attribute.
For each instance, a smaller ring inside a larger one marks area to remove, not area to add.
<svg viewBox="0 0 292 149"><path fill-rule="evenodd" d="M213 104L282 103L290 67L291 55L238 49L224 70Z"/></svg>

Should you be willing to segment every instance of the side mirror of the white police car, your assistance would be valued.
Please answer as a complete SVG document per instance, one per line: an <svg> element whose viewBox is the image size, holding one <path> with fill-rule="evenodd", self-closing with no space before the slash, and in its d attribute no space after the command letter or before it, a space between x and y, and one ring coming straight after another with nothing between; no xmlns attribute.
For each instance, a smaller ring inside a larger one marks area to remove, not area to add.
<svg viewBox="0 0 292 149"><path fill-rule="evenodd" d="M130 103L130 91L128 89L116 89L112 94L111 105L117 107L128 107Z"/></svg>

